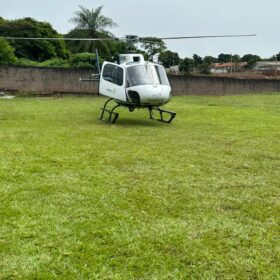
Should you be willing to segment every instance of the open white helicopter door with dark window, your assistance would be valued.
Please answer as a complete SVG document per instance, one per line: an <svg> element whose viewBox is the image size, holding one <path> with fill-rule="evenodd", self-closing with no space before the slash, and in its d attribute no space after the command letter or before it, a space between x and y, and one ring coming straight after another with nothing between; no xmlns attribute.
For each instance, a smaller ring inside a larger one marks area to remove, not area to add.
<svg viewBox="0 0 280 280"><path fill-rule="evenodd" d="M102 95L126 101L125 69L118 64L104 62L102 66L99 92Z"/></svg>

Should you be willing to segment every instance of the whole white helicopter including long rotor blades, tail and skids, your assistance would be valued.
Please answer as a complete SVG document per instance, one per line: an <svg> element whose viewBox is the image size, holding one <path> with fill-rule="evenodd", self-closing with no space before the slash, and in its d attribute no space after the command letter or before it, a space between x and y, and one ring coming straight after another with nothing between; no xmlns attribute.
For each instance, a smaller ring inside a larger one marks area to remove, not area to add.
<svg viewBox="0 0 280 280"><path fill-rule="evenodd" d="M183 37L152 37L160 40L178 39L202 39L202 38L225 38L225 37L251 37L248 35L206 35L206 36L183 36ZM149 41L151 37L138 37L127 35L122 38L29 38L29 37L0 37L6 40L49 40L49 41L111 41L125 40L130 45L143 41ZM119 113L118 107L126 107L130 112L135 109L148 109L150 119L164 123L171 123L176 113L162 109L161 106L171 100L171 86L166 71L159 63L145 61L142 54L120 54L119 62L105 61L100 68L98 50L96 50L98 74L90 79L82 79L82 82L99 81L99 93L109 99L101 108L100 120L114 124ZM114 103L109 109L110 103ZM105 115L108 114L108 118Z"/></svg>

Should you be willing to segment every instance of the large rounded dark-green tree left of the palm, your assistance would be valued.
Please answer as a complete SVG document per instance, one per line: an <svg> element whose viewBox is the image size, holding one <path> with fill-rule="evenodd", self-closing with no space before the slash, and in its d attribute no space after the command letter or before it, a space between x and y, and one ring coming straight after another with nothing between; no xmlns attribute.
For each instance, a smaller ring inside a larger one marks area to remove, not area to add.
<svg viewBox="0 0 280 280"><path fill-rule="evenodd" d="M0 36L9 37L62 37L47 22L39 22L32 18L17 20L0 20ZM69 52L63 41L45 40L11 40L10 44L15 49L19 58L44 61L53 57L67 58Z"/></svg>

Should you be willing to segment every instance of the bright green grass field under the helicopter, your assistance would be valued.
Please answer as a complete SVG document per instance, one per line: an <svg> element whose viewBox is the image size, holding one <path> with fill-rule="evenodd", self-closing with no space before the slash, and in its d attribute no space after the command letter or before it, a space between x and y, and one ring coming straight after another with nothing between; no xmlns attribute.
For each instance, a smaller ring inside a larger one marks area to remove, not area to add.
<svg viewBox="0 0 280 280"><path fill-rule="evenodd" d="M280 279L280 95L0 100L0 279Z"/></svg>

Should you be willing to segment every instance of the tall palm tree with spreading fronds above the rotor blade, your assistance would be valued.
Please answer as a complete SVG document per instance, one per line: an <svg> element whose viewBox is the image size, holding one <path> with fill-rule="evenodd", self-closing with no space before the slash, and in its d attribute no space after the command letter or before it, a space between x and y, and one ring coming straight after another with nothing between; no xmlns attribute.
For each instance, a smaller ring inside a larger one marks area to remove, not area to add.
<svg viewBox="0 0 280 280"><path fill-rule="evenodd" d="M108 38L113 37L108 28L117 27L117 24L109 17L102 15L103 6L96 9L87 9L79 6L80 10L74 13L74 17L70 19L75 23L76 27L67 34L67 37L81 38ZM75 45L74 45L75 44ZM94 48L99 48L101 53L108 55L109 46L106 41L81 41L79 43L70 43L69 47L74 52L88 51L92 52Z"/></svg>

